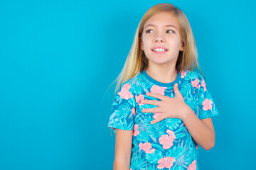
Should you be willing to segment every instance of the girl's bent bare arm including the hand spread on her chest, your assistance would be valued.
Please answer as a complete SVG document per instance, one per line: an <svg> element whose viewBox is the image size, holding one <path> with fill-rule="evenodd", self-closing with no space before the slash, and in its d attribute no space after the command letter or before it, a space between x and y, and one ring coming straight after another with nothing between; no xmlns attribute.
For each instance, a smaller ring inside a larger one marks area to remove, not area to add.
<svg viewBox="0 0 256 170"><path fill-rule="evenodd" d="M190 132L193 140L198 143L203 149L211 149L215 144L215 132L211 118L199 119L183 99L183 96L178 87L174 87L176 96L174 98L156 93L146 93L147 96L159 98L161 101L144 99L143 104L151 104L158 107L143 108L144 113L160 112L161 115L152 120L151 124L157 123L165 118L180 118Z"/></svg>

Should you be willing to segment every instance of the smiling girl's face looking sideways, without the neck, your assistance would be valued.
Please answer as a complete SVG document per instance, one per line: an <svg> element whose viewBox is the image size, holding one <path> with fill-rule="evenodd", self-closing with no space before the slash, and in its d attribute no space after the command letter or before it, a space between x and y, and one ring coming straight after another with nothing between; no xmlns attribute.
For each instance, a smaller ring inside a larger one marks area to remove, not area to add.
<svg viewBox="0 0 256 170"><path fill-rule="evenodd" d="M174 64L175 67L178 53L183 50L178 23L169 11L157 13L146 21L140 42L149 64ZM156 48L159 51L154 51Z"/></svg>

